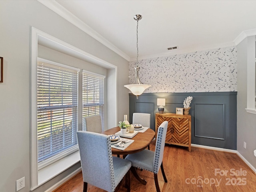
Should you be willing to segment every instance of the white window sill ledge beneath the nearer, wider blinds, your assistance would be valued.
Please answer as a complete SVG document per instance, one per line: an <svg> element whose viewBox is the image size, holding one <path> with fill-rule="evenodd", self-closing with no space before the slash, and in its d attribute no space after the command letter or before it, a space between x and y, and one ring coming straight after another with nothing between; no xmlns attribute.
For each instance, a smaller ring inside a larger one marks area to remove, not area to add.
<svg viewBox="0 0 256 192"><path fill-rule="evenodd" d="M54 178L64 170L67 170L80 161L79 150L68 156L38 170L38 186Z"/></svg>

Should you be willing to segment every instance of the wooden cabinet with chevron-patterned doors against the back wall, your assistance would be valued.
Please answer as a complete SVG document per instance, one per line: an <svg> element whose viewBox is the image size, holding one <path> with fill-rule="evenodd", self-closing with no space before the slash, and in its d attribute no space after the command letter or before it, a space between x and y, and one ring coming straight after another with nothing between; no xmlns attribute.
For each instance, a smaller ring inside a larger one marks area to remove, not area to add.
<svg viewBox="0 0 256 192"><path fill-rule="evenodd" d="M156 113L156 136L158 127L164 121L168 121L165 143L188 147L191 152L191 116Z"/></svg>

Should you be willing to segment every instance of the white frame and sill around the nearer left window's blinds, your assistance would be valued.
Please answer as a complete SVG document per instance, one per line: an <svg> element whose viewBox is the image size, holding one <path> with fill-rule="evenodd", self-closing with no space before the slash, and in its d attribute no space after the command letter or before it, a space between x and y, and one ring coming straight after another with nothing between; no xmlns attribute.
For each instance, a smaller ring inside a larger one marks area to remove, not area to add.
<svg viewBox="0 0 256 192"><path fill-rule="evenodd" d="M36 48L37 49L37 48ZM37 51L36 51L37 52ZM41 61L51 62L40 58ZM36 57L31 65L31 190L54 178L60 172L80 161L78 145L61 152L56 156L38 163L37 143L37 61ZM56 62L52 64L61 65ZM65 65L66 66L66 65ZM67 66L66 66L67 67ZM78 72L80 69L76 69ZM77 80L78 85L78 80Z"/></svg>

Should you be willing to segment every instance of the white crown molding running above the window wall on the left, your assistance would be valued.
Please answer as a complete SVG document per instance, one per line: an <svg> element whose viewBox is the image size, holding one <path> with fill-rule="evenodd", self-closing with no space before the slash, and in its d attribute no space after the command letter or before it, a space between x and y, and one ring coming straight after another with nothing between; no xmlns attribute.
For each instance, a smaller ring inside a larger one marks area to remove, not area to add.
<svg viewBox="0 0 256 192"><path fill-rule="evenodd" d="M64 19L72 23L74 26L78 27L80 30L84 31L86 34L90 35L92 38L96 39L98 42L102 43L104 46L114 51L116 54L120 55L127 61L130 61L130 57L118 49L116 46L111 44L108 40L106 40L103 36L98 34L88 25L86 25L82 20L74 16L71 12L66 10L63 6L58 4L55 0L38 0L38 2L42 3L44 6L48 7L50 10L56 12L58 15L62 16Z"/></svg>

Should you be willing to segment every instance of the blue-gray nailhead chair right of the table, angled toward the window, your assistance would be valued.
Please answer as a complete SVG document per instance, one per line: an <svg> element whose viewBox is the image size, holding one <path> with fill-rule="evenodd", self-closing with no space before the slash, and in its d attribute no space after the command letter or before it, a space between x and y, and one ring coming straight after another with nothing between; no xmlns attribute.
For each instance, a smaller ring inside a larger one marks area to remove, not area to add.
<svg viewBox="0 0 256 192"><path fill-rule="evenodd" d="M158 128L157 132L157 138L156 138L156 149L155 151L150 150L143 150L138 153L129 154L126 156L126 160L129 160L132 162L131 171L134 174L134 176L142 183L146 184L146 180L143 180L140 178L138 173L136 172L136 168L148 170L150 172L154 173L154 179L155 179L155 185L156 185L156 191L160 192L159 184L158 184L158 171L161 168L162 175L164 177L164 182L167 183L167 179L164 173L164 167L163 167L163 156L164 156L164 144L165 144L165 138L166 138L166 131L167 131L168 121L162 122L162 124Z"/></svg>

